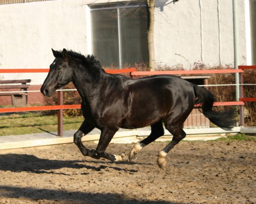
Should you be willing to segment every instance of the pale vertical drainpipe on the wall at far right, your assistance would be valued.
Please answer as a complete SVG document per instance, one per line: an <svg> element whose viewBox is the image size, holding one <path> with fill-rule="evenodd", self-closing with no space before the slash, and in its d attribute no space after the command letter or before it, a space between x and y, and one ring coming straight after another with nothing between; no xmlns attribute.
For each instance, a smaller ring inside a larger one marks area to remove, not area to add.
<svg viewBox="0 0 256 204"><path fill-rule="evenodd" d="M234 31L234 62L235 69L239 65L239 21L238 21L238 0L233 0L233 31ZM235 73L236 101L239 101L239 73Z"/></svg>

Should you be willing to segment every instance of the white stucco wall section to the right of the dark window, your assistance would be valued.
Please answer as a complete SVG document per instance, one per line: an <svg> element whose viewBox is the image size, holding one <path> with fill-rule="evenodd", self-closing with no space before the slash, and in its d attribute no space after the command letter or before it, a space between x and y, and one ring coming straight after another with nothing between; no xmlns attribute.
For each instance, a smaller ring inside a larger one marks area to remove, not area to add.
<svg viewBox="0 0 256 204"><path fill-rule="evenodd" d="M194 63L233 65L232 0L180 0L155 12L156 62L189 69ZM167 2L168 3L168 2ZM161 11L162 10L162 11ZM240 64L246 63L244 1L239 1Z"/></svg>

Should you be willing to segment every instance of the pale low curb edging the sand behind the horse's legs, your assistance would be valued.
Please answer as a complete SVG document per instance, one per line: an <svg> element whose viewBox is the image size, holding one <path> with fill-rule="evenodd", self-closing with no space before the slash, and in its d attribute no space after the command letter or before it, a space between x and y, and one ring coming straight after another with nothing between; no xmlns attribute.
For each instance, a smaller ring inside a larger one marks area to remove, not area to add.
<svg viewBox="0 0 256 204"><path fill-rule="evenodd" d="M184 140L212 140L224 136L226 133L239 133L240 127L233 128L232 131L225 131L221 128L201 128L201 129L185 129L187 134ZM20 136L1 136L0 150L45 146L54 144L73 143L73 134L76 130L64 131L64 136L56 136L56 133L36 133ZM98 142L100 131L93 130L93 133L82 137L82 142ZM140 128L137 130L119 130L111 140L111 143L133 143L138 142L143 137L148 136L151 130L150 127ZM156 141L169 141L172 135L165 130L164 136Z"/></svg>

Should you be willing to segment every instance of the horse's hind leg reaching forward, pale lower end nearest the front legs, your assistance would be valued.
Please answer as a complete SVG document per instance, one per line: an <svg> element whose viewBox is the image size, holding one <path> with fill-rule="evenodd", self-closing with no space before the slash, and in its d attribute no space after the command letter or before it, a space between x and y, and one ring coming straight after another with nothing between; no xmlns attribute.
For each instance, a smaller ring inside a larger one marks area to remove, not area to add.
<svg viewBox="0 0 256 204"><path fill-rule="evenodd" d="M163 130L163 124L162 120L156 122L155 124L151 125L151 133L148 137L143 139L142 141L134 144L134 147L129 153L129 161L134 161L136 159L136 154L140 152L140 150L148 145L151 142L154 142L157 138L160 136L163 136L164 130Z"/></svg>

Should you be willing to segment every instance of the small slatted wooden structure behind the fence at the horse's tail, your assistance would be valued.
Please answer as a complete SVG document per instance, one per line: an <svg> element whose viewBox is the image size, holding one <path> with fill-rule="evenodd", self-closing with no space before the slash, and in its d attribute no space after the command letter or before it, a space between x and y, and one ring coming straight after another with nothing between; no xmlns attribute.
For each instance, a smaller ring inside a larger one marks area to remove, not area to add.
<svg viewBox="0 0 256 204"><path fill-rule="evenodd" d="M208 79L211 76L204 75L204 76L182 76L182 79L185 79L195 85L208 85ZM205 87L207 88L207 87ZM188 118L183 124L183 127L186 128L207 128L210 126L209 119L204 116L203 113L199 111L199 108L194 108L191 113L189 114Z"/></svg>

